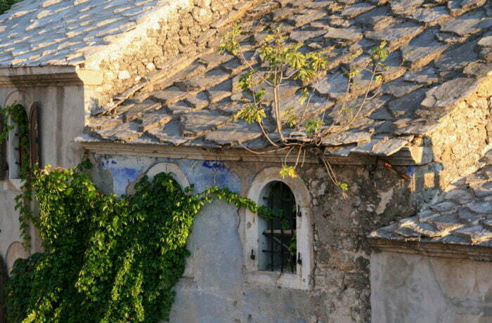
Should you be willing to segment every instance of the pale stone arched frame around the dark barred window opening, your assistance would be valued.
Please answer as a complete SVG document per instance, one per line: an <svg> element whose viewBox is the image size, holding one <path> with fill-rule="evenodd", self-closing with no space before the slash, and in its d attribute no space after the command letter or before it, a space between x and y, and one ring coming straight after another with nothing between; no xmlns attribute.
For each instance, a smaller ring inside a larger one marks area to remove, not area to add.
<svg viewBox="0 0 492 323"><path fill-rule="evenodd" d="M244 225L244 263L245 277L248 283L262 286L282 286L291 289L310 289L313 271L313 220L311 211L311 195L302 178L281 178L280 168L270 167L260 171L247 192L247 197L261 204L261 194L269 183L279 181L285 183L294 194L299 216L296 220L297 252L301 263L297 263L295 273L271 272L259 269L259 221L257 213L245 210Z"/></svg>

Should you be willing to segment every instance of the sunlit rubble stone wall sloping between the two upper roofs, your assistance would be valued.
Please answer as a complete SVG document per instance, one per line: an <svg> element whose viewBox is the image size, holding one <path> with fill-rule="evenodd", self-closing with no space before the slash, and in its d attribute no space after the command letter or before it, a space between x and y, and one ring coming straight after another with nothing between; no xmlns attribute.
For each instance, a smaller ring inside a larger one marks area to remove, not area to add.
<svg viewBox="0 0 492 323"><path fill-rule="evenodd" d="M133 39L114 58L97 62L104 74L103 86L99 88L94 104L108 103L143 77L169 77L179 71L180 66L188 66L196 55L217 47L224 30L233 21L264 1L184 0L181 5L169 8L157 28L149 27L146 34ZM93 59L97 60L97 57ZM94 62L86 64L93 65Z"/></svg>

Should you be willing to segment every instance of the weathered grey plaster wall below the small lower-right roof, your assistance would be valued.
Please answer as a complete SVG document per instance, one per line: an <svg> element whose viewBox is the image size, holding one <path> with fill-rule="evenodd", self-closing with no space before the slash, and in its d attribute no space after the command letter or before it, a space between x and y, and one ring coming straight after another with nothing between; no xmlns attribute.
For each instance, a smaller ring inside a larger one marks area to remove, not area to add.
<svg viewBox="0 0 492 323"><path fill-rule="evenodd" d="M492 263L373 253L373 322L492 322Z"/></svg>

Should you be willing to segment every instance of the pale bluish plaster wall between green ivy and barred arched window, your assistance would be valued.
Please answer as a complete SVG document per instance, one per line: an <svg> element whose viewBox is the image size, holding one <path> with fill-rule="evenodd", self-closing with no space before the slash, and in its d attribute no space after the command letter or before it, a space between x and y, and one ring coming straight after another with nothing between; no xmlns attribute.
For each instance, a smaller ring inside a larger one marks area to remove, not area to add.
<svg viewBox="0 0 492 323"><path fill-rule="evenodd" d="M224 202L205 206L197 216L190 236L194 276L176 286L170 322L316 322L310 317L323 297L247 284L240 225L238 210Z"/></svg>

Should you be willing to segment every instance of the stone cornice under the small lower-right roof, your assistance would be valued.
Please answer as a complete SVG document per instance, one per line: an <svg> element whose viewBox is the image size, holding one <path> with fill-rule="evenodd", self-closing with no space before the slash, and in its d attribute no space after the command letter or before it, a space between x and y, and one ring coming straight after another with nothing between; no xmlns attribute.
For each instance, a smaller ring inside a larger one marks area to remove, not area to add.
<svg viewBox="0 0 492 323"><path fill-rule="evenodd" d="M492 261L492 248L471 244L443 244L440 242L398 241L369 238L374 251L413 253L424 256Z"/></svg>

